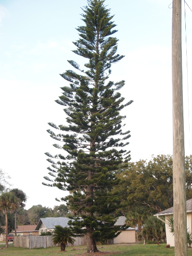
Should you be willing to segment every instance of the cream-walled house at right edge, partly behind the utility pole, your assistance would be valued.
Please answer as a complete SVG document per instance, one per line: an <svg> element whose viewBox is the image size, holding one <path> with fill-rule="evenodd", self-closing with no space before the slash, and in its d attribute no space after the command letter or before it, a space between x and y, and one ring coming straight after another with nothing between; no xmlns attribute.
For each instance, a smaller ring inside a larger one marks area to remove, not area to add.
<svg viewBox="0 0 192 256"><path fill-rule="evenodd" d="M187 210L187 229L190 233L192 233L192 199L187 200L186 210ZM173 216L173 207L168 208L167 210L158 212L154 216L156 216L158 219L165 222L167 244L170 244L170 246L175 246L174 235L170 232L168 227L168 217ZM161 219L161 216L164 216L165 220Z"/></svg>

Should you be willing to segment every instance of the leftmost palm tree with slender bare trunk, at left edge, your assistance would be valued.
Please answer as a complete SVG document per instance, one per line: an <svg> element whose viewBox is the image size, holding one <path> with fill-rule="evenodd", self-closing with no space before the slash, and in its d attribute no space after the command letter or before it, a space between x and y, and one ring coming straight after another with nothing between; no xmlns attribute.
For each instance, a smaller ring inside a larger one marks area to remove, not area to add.
<svg viewBox="0 0 192 256"><path fill-rule="evenodd" d="M12 192L4 192L0 195L0 211L5 214L5 225L6 225L6 245L8 247L8 218L7 213L14 212L18 209L20 200Z"/></svg>

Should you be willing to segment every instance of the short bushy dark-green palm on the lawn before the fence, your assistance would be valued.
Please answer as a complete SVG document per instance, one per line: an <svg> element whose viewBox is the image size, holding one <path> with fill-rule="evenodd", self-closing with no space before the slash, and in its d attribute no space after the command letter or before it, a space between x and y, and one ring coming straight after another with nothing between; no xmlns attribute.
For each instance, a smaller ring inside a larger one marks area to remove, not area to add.
<svg viewBox="0 0 192 256"><path fill-rule="evenodd" d="M65 251L65 247L67 244L74 244L74 239L72 238L74 234L70 228L63 228L61 226L55 226L54 235L52 237L53 244L59 244L60 250Z"/></svg>

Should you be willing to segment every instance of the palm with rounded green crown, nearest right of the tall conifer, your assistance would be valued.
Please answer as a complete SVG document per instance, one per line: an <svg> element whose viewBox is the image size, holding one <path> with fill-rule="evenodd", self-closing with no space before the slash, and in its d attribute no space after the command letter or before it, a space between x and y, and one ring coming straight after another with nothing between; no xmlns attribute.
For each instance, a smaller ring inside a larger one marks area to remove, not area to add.
<svg viewBox="0 0 192 256"><path fill-rule="evenodd" d="M141 232L142 226L144 224L145 219L149 214L149 210L143 206L134 207L127 214L127 223L129 225L138 226L138 232Z"/></svg>

